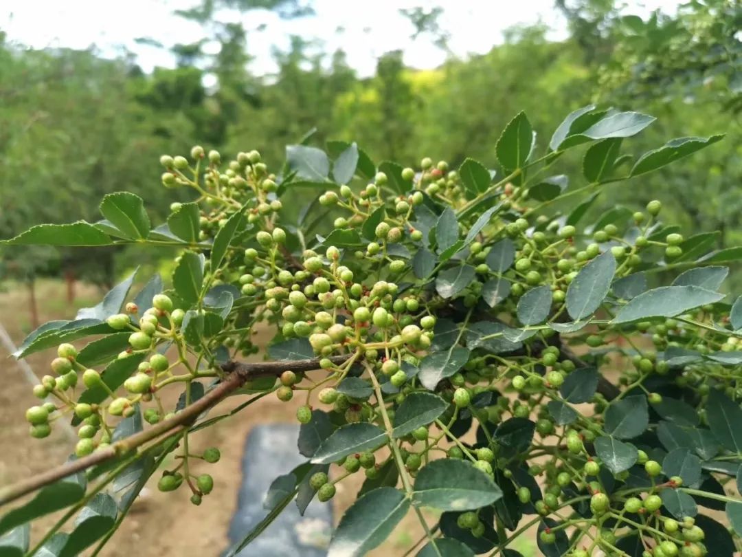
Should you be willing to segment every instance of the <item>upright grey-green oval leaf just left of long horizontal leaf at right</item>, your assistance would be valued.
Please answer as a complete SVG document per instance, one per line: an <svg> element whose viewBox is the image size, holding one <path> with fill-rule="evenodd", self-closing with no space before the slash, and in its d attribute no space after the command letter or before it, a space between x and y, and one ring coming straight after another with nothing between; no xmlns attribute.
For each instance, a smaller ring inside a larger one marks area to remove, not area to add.
<svg viewBox="0 0 742 557"><path fill-rule="evenodd" d="M575 321L590 316L603 303L616 273L616 259L610 250L582 267L567 288L567 313Z"/></svg>

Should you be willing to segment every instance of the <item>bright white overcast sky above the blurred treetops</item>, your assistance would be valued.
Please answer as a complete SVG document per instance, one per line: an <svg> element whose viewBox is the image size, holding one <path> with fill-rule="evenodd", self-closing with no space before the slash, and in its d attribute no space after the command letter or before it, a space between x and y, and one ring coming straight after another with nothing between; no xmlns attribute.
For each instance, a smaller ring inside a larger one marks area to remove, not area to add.
<svg viewBox="0 0 742 557"><path fill-rule="evenodd" d="M124 46L137 53L146 71L173 65L167 49L138 45L134 39L154 39L165 47L195 42L203 36L199 25L172 16L194 0L2 0L0 29L11 41L33 48L88 48L96 45L110 55ZM646 15L657 7L674 11L674 0L628 1L627 13ZM255 10L242 16L249 33L248 50L255 56L252 71L275 69L272 49L288 48L289 36L320 40L325 51L342 48L349 64L361 74L372 74L375 59L401 49L407 65L434 68L445 54L430 38L413 41L413 27L398 12L401 7L444 7L439 20L450 32L450 48L459 56L484 53L502 41L502 31L512 25L542 22L552 36L565 33L565 22L554 10L554 0L315 0L315 16L283 21L274 13ZM237 17L236 15L232 17ZM265 25L263 31L257 27ZM338 33L338 28L344 29Z"/></svg>

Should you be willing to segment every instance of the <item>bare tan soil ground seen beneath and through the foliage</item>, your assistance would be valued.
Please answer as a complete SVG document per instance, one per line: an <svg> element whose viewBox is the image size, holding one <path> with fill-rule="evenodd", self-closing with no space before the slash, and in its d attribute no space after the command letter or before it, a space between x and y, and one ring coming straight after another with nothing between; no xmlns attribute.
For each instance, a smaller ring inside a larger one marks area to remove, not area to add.
<svg viewBox="0 0 742 557"><path fill-rule="evenodd" d="M57 281L39 281L37 286L39 312L42 322L50 319L70 319L79 307L90 306L99 301L101 293L93 287L78 285L73 304L65 302L65 286ZM10 288L0 291L0 323L7 329L16 345L32 329L27 309L26 291ZM263 339L267 341L268 336ZM53 349L33 354L27 359L33 371L41 377L56 354ZM62 463L73 447L74 439L65 429L55 427L46 440L33 440L28 435L24 420L26 408L37 404L31 393L31 385L24 378L19 365L0 345L0 373L4 388L0 389L0 486L43 472ZM174 404L178 393L172 391ZM229 411L243 402L241 397L232 397L214 408L211 415ZM104 557L203 556L217 557L228 546L227 530L237 505L237 486L241 481L240 459L244 443L251 429L265 423L295 423L295 411L300 402L281 403L275 397L266 397L240 414L223 420L216 426L191 437L192 451L198 453L209 446L219 447L222 457L216 464L203 463L199 472L208 471L214 476L214 491L204 498L201 506L188 501L184 490L174 493L157 491L157 474L131 509L111 541L102 551ZM167 463L166 463L167 464ZM201 469L203 468L203 470ZM288 472L277 466L276 475ZM338 495L333 499L335 520L338 521L347 506L355 499L361 487L362 475L354 475L338 486ZM41 535L59 518L60 513L48 515L36 521L32 541ZM427 522L435 524L436 516L427 514ZM420 524L412 512L395 529L393 535L374 552L374 557L401 557L407 548L423 534ZM421 547L421 546L420 546ZM536 555L532 536L526 536L515 549L524 556ZM414 553L413 553L414 554ZM270 556L266 556L270 557Z"/></svg>

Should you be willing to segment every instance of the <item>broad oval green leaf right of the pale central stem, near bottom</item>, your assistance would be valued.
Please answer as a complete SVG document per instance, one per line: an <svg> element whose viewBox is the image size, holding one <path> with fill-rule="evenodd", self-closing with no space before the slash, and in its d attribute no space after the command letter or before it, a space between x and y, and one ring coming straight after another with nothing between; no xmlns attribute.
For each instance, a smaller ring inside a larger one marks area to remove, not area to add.
<svg viewBox="0 0 742 557"><path fill-rule="evenodd" d="M433 460L415 478L413 501L442 511L479 509L502 497L492 479L464 460Z"/></svg>

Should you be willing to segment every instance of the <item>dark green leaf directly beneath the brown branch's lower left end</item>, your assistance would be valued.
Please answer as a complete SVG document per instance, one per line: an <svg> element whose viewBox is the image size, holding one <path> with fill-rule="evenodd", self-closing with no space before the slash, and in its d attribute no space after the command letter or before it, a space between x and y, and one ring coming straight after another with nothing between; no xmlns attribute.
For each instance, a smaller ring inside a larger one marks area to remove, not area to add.
<svg viewBox="0 0 742 557"><path fill-rule="evenodd" d="M76 474L50 483L36 492L36 497L24 506L7 512L0 518L0 535L40 516L75 504L85 495L85 475Z"/></svg>

